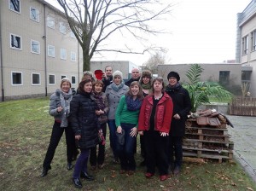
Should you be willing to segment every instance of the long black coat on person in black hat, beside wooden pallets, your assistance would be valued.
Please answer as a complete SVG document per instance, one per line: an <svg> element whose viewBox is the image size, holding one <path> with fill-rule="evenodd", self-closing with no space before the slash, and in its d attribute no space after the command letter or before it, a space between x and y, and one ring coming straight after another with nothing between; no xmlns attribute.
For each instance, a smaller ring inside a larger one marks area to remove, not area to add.
<svg viewBox="0 0 256 191"><path fill-rule="evenodd" d="M184 89L181 85L176 88L166 86L166 93L172 97L173 113L172 117L177 113L181 119L172 118L170 136L184 136L185 122L191 109L191 100L189 91Z"/></svg>

